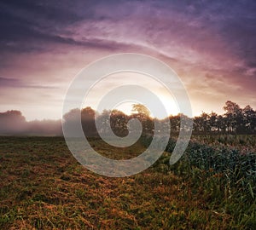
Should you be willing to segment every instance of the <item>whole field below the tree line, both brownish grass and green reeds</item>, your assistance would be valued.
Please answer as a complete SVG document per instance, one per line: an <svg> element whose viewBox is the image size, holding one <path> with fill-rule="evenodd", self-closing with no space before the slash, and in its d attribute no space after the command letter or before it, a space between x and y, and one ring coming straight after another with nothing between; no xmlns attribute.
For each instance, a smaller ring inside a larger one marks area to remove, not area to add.
<svg viewBox="0 0 256 230"><path fill-rule="evenodd" d="M147 146L90 143L109 158ZM255 136L195 136L170 166L173 144L148 170L108 178L61 137L0 137L0 229L256 229Z"/></svg>

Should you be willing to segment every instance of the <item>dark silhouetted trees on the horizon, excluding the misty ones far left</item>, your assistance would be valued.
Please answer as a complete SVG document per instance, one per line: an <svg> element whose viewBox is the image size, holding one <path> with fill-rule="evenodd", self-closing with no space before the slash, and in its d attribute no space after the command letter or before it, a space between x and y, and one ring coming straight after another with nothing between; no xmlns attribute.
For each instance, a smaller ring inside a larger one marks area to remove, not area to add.
<svg viewBox="0 0 256 230"><path fill-rule="evenodd" d="M218 115L216 112L202 112L200 116L188 118L184 114L169 116L168 118L158 119L150 117L150 112L146 106L134 104L131 115L127 115L119 110L104 110L98 113L91 107L86 107L81 111L81 123L84 134L95 136L99 133L108 132L112 129L115 135L125 136L129 132L128 121L131 118L137 118L143 126L143 134L153 135L154 123L159 123L162 129L165 129L166 123L171 123L171 132L178 133L180 129L189 129L189 123L193 119L193 133L195 134L255 134L256 133L256 111L251 106L241 108L232 101L226 101L224 104L224 114ZM67 123L72 121L74 114L80 112L75 109L68 112L64 119ZM183 117L185 121L183 127L180 127L180 120ZM96 129L95 118L101 124L101 129ZM110 118L110 119L108 119ZM187 122L186 122L187 121ZM70 123L72 124L72 123Z"/></svg>

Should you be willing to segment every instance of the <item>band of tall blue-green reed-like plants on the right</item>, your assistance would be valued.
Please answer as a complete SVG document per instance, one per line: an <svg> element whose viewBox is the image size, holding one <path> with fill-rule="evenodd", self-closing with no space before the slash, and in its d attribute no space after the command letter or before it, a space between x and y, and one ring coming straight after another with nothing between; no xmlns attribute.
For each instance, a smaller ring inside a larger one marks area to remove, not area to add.
<svg viewBox="0 0 256 230"><path fill-rule="evenodd" d="M148 147L151 137L143 137L143 145ZM159 140L160 141L160 140ZM166 152L172 153L176 140L170 139ZM170 156L162 160L169 163ZM156 163L161 164L161 163ZM183 176L189 176L200 170L209 176L222 177L222 182L245 194L250 200L256 196L256 154L241 152L239 149L224 146L209 146L197 141L190 141L183 157L169 170Z"/></svg>

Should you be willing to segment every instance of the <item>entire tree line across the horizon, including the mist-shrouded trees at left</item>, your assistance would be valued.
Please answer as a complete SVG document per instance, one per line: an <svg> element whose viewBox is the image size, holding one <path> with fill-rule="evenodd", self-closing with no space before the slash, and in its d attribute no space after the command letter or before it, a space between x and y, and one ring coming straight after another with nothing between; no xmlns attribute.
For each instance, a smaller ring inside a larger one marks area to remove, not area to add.
<svg viewBox="0 0 256 230"><path fill-rule="evenodd" d="M79 115L79 116L78 116ZM110 119L108 119L110 117ZM251 106L241 108L235 102L227 101L224 104L224 114L216 112L202 112L200 116L188 118L184 114L169 116L164 119L150 117L147 107L135 104L131 115L119 110L104 110L99 113L90 106L80 110L73 109L64 116L64 124L71 129L76 129L73 124L75 119L81 118L84 134L87 136L98 136L99 133L108 133L112 129L115 135L125 136L129 132L128 121L131 118L140 120L143 126L143 134L153 135L159 130L154 130L154 123L160 124L161 129L166 129L166 124L171 124L171 133L179 133L180 129L190 129L193 119L194 134L255 134L256 133L256 111ZM185 123L180 127L180 120ZM96 129L96 120L100 129ZM186 122L187 121L187 122ZM20 111L0 112L0 135L62 135L61 120L42 120L27 122Z"/></svg>

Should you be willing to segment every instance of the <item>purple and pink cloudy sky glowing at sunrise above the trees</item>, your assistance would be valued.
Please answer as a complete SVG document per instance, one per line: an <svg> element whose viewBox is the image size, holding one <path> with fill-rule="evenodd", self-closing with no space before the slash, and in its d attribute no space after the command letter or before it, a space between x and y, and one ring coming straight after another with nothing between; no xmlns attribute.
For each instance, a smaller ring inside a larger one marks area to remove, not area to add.
<svg viewBox="0 0 256 230"><path fill-rule="evenodd" d="M222 114L229 100L255 109L255 12L253 0L2 0L0 112L19 110L27 120L59 119L76 74L119 53L151 55L172 67L194 115ZM127 78L110 78L95 92L108 92L109 85ZM162 89L146 85L168 104ZM168 112L177 112L169 107Z"/></svg>

